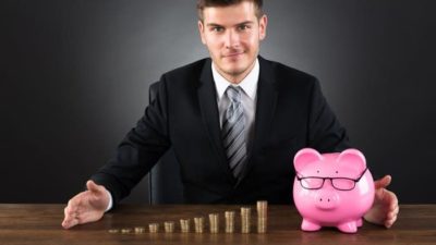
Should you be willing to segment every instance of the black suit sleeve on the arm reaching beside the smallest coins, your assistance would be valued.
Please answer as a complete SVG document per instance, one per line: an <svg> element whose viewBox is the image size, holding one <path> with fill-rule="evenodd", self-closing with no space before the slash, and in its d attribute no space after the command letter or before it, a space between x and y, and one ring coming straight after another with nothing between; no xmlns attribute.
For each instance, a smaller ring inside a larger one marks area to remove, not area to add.
<svg viewBox="0 0 436 245"><path fill-rule="evenodd" d="M116 157L90 179L111 193L116 206L130 194L169 147L167 93L162 77L156 99L118 146Z"/></svg>

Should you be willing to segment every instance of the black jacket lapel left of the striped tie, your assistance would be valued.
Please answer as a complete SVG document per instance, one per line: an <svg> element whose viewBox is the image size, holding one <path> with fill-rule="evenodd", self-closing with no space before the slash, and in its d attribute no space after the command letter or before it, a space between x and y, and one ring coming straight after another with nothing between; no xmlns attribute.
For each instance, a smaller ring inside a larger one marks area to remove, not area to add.
<svg viewBox="0 0 436 245"><path fill-rule="evenodd" d="M199 77L198 103L202 112L204 126L214 148L218 155L220 166L230 182L235 182L227 163L227 158L221 140L221 127L219 125L219 112L217 105L217 91L211 74L211 60L207 59Z"/></svg>

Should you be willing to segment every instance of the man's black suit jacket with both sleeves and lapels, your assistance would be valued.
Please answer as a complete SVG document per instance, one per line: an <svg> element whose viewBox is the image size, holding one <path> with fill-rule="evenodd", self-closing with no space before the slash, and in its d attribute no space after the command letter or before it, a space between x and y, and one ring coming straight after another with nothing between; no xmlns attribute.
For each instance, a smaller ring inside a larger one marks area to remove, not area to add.
<svg viewBox="0 0 436 245"><path fill-rule="evenodd" d="M290 204L295 152L304 147L341 151L349 147L348 137L314 76L258 59L254 142L240 181L221 144L210 59L161 76L156 99L122 140L117 157L92 179L104 184L117 204L171 146L187 203Z"/></svg>

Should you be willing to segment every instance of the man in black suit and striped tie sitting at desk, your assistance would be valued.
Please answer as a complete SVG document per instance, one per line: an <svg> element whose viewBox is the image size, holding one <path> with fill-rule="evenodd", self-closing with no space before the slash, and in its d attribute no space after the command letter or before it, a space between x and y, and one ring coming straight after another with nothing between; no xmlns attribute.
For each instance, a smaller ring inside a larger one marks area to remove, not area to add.
<svg viewBox="0 0 436 245"><path fill-rule="evenodd" d="M99 220L171 146L187 203L290 204L292 157L349 147L343 127L315 77L258 56L267 17L262 0L199 0L198 30L210 59L162 75L118 156L87 182L64 210L62 225ZM98 184L96 184L98 183ZM365 219L391 226L398 201L376 182Z"/></svg>

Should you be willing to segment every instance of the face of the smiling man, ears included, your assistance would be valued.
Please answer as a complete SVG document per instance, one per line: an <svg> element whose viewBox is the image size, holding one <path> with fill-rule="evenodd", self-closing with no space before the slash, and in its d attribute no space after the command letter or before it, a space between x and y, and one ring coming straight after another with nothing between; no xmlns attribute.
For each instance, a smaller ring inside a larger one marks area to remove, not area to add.
<svg viewBox="0 0 436 245"><path fill-rule="evenodd" d="M205 8L203 16L198 29L215 68L230 82L240 83L254 66L259 41L266 35L266 16L258 20L250 1Z"/></svg>

